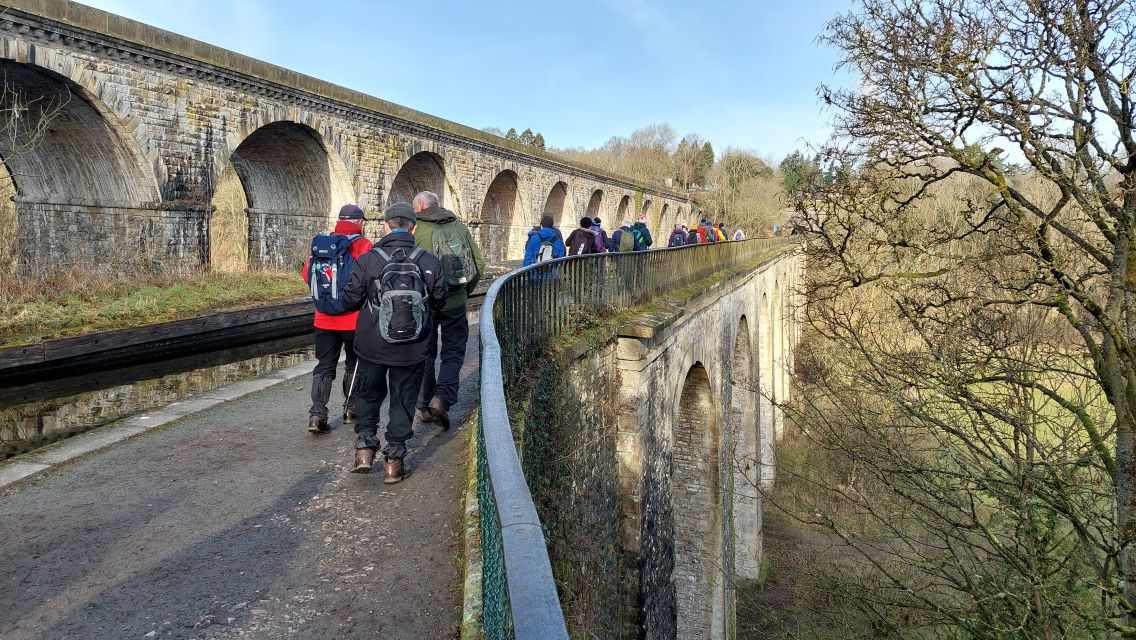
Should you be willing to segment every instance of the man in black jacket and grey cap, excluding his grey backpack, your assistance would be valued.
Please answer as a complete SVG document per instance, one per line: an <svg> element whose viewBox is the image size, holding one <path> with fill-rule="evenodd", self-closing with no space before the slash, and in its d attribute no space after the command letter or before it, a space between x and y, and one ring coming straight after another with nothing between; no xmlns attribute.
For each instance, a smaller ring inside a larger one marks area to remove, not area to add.
<svg viewBox="0 0 1136 640"><path fill-rule="evenodd" d="M352 473L370 473L375 463L375 451L378 450L378 416L387 391L391 394L389 422L386 425L386 447L383 449L383 481L387 484L401 482L408 475L402 458L407 455L407 441L414 435L411 422L415 400L421 387L423 369L426 365L426 354L431 340L436 340L431 318L426 318L425 329L417 340L392 343L383 339L376 324L371 305L376 301L379 288L378 279L383 267L389 263L378 250L393 257L396 250L410 256L415 247L415 210L407 202L395 202L386 209L386 235L375 243L375 248L356 260L351 280L343 291L344 306L358 309L359 323L356 325L354 351L359 356L359 375L356 381L356 459ZM423 251L415 263L421 272L426 285L429 314L436 314L445 306L448 296L442 263L433 253Z"/></svg>

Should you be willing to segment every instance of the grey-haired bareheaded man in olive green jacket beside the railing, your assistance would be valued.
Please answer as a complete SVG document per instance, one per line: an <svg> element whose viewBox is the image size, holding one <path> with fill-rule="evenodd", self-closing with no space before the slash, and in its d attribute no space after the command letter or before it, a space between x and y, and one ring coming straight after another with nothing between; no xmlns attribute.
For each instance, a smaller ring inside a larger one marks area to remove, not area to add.
<svg viewBox="0 0 1136 640"><path fill-rule="evenodd" d="M426 372L416 414L421 422L437 422L442 429L450 429L450 407L458 401L458 374L466 361L466 342L469 340L466 300L477 286L485 261L469 228L458 221L453 211L442 208L437 194L423 191L415 196L414 207L418 217L415 242L442 260L442 272L450 286L445 307L441 313L433 314L434 331L442 339L442 366L435 379L434 360L438 355L436 335L429 341L426 354Z"/></svg>

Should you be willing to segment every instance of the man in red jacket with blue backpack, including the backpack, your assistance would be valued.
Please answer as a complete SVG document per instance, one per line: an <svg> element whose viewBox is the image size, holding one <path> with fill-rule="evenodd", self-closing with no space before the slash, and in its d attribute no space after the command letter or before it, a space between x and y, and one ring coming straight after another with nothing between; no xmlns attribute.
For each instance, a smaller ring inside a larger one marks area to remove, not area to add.
<svg viewBox="0 0 1136 640"><path fill-rule="evenodd" d="M358 311L345 310L344 290L351 269L360 256L370 251L370 240L362 235L367 218L356 205L344 205L331 233L320 233L311 240L311 257L303 266L303 281L311 289L316 306L316 368L311 372L311 408L308 409L308 431L327 433L327 401L340 364L340 351L346 351L343 369L343 422L356 419L351 384L356 379L354 327Z"/></svg>

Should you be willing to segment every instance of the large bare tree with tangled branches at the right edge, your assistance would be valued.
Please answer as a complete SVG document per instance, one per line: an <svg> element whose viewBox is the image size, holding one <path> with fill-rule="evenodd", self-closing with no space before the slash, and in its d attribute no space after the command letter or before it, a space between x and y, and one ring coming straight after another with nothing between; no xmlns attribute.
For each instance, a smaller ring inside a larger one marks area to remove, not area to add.
<svg viewBox="0 0 1136 640"><path fill-rule="evenodd" d="M859 171L800 202L830 348L790 409L857 469L834 490L877 537L815 520L874 562L892 632L887 607L935 637L1136 637L1134 38L1124 0L829 24L860 86L822 89L826 153Z"/></svg>

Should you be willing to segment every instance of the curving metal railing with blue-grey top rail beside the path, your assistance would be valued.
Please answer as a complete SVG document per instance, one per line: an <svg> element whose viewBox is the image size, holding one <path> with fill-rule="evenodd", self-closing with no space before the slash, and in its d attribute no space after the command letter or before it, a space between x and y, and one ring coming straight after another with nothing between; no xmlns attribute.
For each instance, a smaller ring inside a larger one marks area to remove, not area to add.
<svg viewBox="0 0 1136 640"><path fill-rule="evenodd" d="M517 269L485 293L477 433L485 638L568 638L544 531L506 405L506 387L517 380L524 354L590 317L642 305L719 271L772 257L790 243L794 239L768 238L574 256Z"/></svg>

